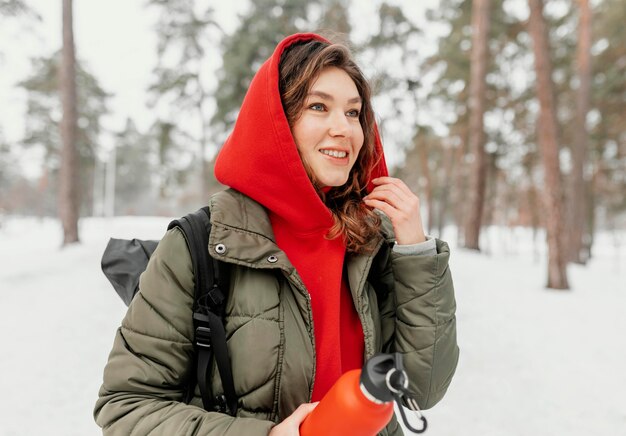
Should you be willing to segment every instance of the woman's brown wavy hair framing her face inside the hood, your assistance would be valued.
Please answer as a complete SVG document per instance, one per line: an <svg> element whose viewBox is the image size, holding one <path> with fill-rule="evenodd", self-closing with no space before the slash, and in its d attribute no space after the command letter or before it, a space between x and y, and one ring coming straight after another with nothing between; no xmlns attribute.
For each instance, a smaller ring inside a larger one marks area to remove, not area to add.
<svg viewBox="0 0 626 436"><path fill-rule="evenodd" d="M322 191L310 167L306 172L324 204L330 209L334 225L327 238L343 237L349 253L370 253L380 233L380 217L363 203L370 171L376 165L375 121L371 104L370 86L352 60L349 49L342 44L317 40L300 41L289 46L280 59L279 89L283 109L289 125L300 118L309 89L321 71L336 67L345 71L354 81L362 99L359 122L363 129L363 146L350 171L348 181L330 190ZM378 157L380 159L380 157Z"/></svg>

